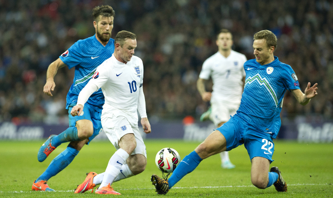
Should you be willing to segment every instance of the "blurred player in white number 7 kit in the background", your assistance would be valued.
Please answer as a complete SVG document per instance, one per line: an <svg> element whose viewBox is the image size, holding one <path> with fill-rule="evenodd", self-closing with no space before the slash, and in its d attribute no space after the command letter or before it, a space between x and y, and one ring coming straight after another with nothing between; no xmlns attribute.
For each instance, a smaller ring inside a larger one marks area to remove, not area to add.
<svg viewBox="0 0 333 198"><path fill-rule="evenodd" d="M235 52L233 37L230 31L222 29L217 35L218 52L203 62L202 70L197 81L197 89L204 102L211 101L211 108L200 117L200 121L210 119L217 127L222 126L236 114L239 107L245 71L243 68L246 57ZM213 92L207 92L204 82L212 76ZM221 152L222 168L235 168L227 151Z"/></svg>

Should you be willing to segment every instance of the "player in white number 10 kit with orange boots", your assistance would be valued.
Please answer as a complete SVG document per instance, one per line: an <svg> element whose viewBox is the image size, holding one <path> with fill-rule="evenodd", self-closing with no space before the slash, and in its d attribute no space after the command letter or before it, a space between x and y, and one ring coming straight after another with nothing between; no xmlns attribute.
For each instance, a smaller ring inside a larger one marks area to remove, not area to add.
<svg viewBox="0 0 333 198"><path fill-rule="evenodd" d="M142 90L143 63L133 56L136 48L136 35L118 32L115 38L115 50L111 58L97 68L92 79L82 89L72 116L80 115L89 96L102 89L105 96L101 123L103 130L117 151L111 157L104 173L90 172L75 190L82 193L93 189L98 194L120 194L111 187L113 182L141 173L147 165L147 152L138 128L138 115L141 117L143 131L151 132L151 126L145 111L145 99ZM122 170L122 171L120 171Z"/></svg>

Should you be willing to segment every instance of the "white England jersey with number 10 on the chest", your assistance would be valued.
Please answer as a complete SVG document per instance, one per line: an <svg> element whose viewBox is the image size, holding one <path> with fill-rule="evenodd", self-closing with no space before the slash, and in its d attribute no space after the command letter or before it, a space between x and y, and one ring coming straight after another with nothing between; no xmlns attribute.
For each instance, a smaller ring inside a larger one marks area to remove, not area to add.
<svg viewBox="0 0 333 198"><path fill-rule="evenodd" d="M137 126L139 88L143 82L143 63L139 57L133 56L125 64L112 55L99 65L91 82L105 96L102 117L124 116L132 126Z"/></svg>

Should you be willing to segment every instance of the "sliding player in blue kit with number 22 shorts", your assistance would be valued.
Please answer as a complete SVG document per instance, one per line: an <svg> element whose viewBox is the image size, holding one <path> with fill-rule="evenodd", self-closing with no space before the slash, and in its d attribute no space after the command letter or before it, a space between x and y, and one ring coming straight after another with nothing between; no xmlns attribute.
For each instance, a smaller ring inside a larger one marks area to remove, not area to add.
<svg viewBox="0 0 333 198"><path fill-rule="evenodd" d="M237 113L185 156L169 180L152 175L151 181L158 194L166 194L203 159L242 144L252 163L252 184L260 189L274 185L277 191L287 191L287 184L278 167L269 170L269 165L273 162L273 139L277 137L281 125L280 112L284 93L286 90L291 91L300 104L306 105L317 95L318 87L317 83L310 87L308 82L303 94L290 65L280 62L273 55L276 46L277 38L274 33L262 30L254 35L256 59L244 63L246 79Z"/></svg>

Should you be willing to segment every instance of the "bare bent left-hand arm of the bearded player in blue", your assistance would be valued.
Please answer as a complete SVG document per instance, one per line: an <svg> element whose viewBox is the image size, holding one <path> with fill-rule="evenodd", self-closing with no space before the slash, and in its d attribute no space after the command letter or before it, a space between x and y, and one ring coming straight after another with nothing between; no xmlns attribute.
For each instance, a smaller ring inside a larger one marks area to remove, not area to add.
<svg viewBox="0 0 333 198"><path fill-rule="evenodd" d="M56 75L58 69L65 67L65 65L66 64L60 58L56 59L49 65L46 72L46 83L44 85L44 93L48 96L52 96L51 91L54 91L54 76Z"/></svg>

